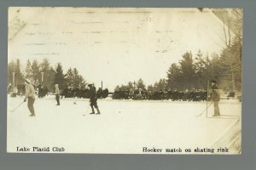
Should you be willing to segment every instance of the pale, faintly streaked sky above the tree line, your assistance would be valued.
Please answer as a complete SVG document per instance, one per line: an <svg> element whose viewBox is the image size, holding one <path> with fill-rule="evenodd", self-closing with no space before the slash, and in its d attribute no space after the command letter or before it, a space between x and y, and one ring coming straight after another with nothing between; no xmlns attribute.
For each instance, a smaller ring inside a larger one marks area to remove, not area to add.
<svg viewBox="0 0 256 170"><path fill-rule="evenodd" d="M49 59L113 90L166 78L182 54L219 54L223 24L197 8L9 8L9 61Z"/></svg>

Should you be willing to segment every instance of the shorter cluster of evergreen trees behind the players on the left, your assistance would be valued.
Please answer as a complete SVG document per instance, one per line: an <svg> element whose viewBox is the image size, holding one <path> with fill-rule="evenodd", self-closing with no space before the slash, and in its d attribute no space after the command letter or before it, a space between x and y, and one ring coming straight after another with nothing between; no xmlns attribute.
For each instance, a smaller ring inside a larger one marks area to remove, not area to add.
<svg viewBox="0 0 256 170"><path fill-rule="evenodd" d="M84 77L79 75L76 68L69 68L67 73L64 73L61 63L53 67L49 64L48 59L43 59L41 63L38 63L37 59L32 62L28 59L24 71L20 71L20 59L12 60L8 65L9 84L13 84L14 76L15 87L24 83L26 78L31 80L36 87L42 85L47 87L49 91L54 91L55 84L59 84L61 89L65 87L85 88L86 85Z"/></svg>

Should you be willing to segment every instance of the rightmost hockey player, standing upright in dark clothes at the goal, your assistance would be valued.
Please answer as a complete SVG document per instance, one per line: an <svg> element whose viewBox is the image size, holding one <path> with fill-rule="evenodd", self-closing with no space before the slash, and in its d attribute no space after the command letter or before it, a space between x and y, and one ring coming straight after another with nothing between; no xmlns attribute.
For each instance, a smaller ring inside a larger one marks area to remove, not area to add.
<svg viewBox="0 0 256 170"><path fill-rule="evenodd" d="M213 116L220 116L219 109L218 109L218 101L220 100L220 96L218 93L218 86L216 81L212 81L212 94L211 99L214 104L214 115Z"/></svg>

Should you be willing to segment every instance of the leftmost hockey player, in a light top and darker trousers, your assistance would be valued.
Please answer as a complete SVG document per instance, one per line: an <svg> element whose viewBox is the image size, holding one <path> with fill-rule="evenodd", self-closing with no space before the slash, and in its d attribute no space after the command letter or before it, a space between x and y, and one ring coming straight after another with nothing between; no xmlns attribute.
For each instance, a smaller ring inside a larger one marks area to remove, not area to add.
<svg viewBox="0 0 256 170"><path fill-rule="evenodd" d="M27 107L29 111L31 112L30 116L36 116L34 111L34 102L35 102L35 88L32 86L32 83L26 79L26 97L24 99L24 102L26 102L27 99Z"/></svg>

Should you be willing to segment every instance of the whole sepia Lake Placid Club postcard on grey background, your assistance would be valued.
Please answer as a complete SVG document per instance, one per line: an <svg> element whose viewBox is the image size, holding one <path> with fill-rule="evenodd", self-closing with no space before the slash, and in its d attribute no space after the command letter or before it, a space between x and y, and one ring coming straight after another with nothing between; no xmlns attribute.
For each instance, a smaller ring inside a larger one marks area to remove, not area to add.
<svg viewBox="0 0 256 170"><path fill-rule="evenodd" d="M240 155L242 13L9 7L7 152Z"/></svg>

